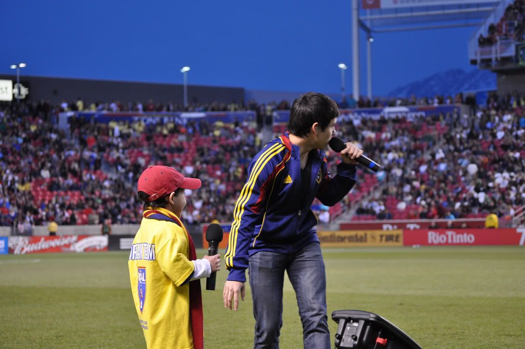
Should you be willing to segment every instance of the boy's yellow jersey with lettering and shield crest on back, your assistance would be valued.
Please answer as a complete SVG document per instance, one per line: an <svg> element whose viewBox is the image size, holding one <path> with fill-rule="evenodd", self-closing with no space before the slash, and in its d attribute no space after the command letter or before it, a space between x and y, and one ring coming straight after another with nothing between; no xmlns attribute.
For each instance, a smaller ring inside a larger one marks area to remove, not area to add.
<svg viewBox="0 0 525 349"><path fill-rule="evenodd" d="M190 288L184 283L194 271L188 253L188 238L177 224L142 219L128 267L133 301L150 349L193 348Z"/></svg>

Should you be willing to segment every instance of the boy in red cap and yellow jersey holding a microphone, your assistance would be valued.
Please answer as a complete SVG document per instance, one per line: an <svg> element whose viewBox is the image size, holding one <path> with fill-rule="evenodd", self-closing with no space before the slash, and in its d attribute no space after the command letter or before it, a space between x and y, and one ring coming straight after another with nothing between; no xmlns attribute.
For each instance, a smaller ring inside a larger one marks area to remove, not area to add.
<svg viewBox="0 0 525 349"><path fill-rule="evenodd" d="M167 166L142 172L138 195L143 219L128 267L135 308L148 348L203 348L201 283L220 269L220 255L197 260L195 245L180 218L184 189L201 180Z"/></svg>

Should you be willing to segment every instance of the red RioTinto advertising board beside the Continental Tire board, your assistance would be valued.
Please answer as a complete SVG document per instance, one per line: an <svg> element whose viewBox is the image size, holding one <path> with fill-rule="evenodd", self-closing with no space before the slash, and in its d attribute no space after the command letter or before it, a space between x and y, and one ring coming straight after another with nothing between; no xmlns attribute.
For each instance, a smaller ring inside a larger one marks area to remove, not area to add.
<svg viewBox="0 0 525 349"><path fill-rule="evenodd" d="M405 246L519 245L525 243L525 228L509 229L419 229L404 230Z"/></svg>

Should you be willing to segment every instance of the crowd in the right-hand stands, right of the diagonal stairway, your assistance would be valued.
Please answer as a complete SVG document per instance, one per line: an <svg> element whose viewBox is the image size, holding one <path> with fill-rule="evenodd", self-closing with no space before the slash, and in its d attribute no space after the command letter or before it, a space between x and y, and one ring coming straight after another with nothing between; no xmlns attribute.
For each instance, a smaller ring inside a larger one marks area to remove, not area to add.
<svg viewBox="0 0 525 349"><path fill-rule="evenodd" d="M523 96L492 94L474 117L445 123L453 132L432 151L392 169L383 199L362 202L354 219L505 217L525 204Z"/></svg>

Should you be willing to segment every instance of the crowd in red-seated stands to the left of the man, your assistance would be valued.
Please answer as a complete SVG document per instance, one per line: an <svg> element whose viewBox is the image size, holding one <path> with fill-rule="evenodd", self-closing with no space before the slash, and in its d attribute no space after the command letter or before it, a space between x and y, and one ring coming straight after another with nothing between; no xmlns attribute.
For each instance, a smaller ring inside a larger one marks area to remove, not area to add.
<svg viewBox="0 0 525 349"><path fill-rule="evenodd" d="M45 115L31 114L28 109L18 116L9 109L0 114L4 225L39 225L49 219L136 223L142 207L134 186L150 163L169 163L203 180L198 195L188 196L188 222L225 220L260 147L255 128L246 124L146 127L71 118L69 129L61 130Z"/></svg>

